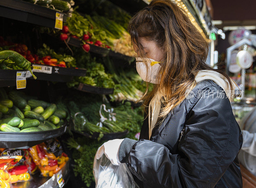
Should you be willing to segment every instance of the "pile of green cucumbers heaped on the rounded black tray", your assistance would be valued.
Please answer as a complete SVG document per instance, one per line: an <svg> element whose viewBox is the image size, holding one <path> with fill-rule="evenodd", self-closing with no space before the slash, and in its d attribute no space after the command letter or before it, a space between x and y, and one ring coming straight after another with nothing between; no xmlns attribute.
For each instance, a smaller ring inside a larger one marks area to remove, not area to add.
<svg viewBox="0 0 256 188"><path fill-rule="evenodd" d="M55 104L30 99L17 90L12 90L7 95L0 88L0 131L48 131L62 127L66 117L67 112L57 109Z"/></svg>

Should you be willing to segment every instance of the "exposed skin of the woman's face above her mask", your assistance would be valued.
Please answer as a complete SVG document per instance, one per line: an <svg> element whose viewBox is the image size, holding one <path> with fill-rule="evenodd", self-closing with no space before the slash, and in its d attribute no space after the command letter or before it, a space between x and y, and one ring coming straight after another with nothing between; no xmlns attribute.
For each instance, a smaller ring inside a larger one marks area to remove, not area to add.
<svg viewBox="0 0 256 188"><path fill-rule="evenodd" d="M163 59L163 51L157 46L156 42L148 41L145 38L140 38L139 40L144 48L146 57L161 62Z"/></svg>

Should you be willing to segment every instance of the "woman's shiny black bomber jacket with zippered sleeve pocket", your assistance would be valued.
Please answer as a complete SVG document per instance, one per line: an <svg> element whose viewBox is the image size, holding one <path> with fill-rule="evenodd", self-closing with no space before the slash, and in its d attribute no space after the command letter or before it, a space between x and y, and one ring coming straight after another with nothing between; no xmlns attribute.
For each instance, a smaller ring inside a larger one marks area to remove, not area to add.
<svg viewBox="0 0 256 188"><path fill-rule="evenodd" d="M140 187L242 187L237 154L243 138L226 94L211 80L193 92L154 127L150 139L147 118L140 141L121 143L119 160Z"/></svg>

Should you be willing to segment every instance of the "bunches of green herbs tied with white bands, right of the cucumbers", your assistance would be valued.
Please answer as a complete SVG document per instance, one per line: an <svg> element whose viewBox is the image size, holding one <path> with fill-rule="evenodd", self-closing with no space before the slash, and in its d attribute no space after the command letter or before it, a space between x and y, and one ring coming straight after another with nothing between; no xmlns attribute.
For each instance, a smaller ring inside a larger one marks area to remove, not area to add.
<svg viewBox="0 0 256 188"><path fill-rule="evenodd" d="M76 97L65 103L70 111L75 130L89 134L100 133L98 140L108 133L127 130L134 138L134 135L140 132L143 122L142 110L133 109L130 102L113 108L100 98L84 97L76 93Z"/></svg>

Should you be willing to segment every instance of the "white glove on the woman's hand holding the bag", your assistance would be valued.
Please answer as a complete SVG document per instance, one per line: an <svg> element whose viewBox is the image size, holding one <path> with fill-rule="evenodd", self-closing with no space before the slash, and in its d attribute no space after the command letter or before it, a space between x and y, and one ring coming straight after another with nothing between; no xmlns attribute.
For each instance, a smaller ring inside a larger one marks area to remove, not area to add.
<svg viewBox="0 0 256 188"><path fill-rule="evenodd" d="M102 144L95 154L96 159L100 159L100 157L105 154L112 164L120 165L118 151L123 140L124 139L115 139Z"/></svg>

